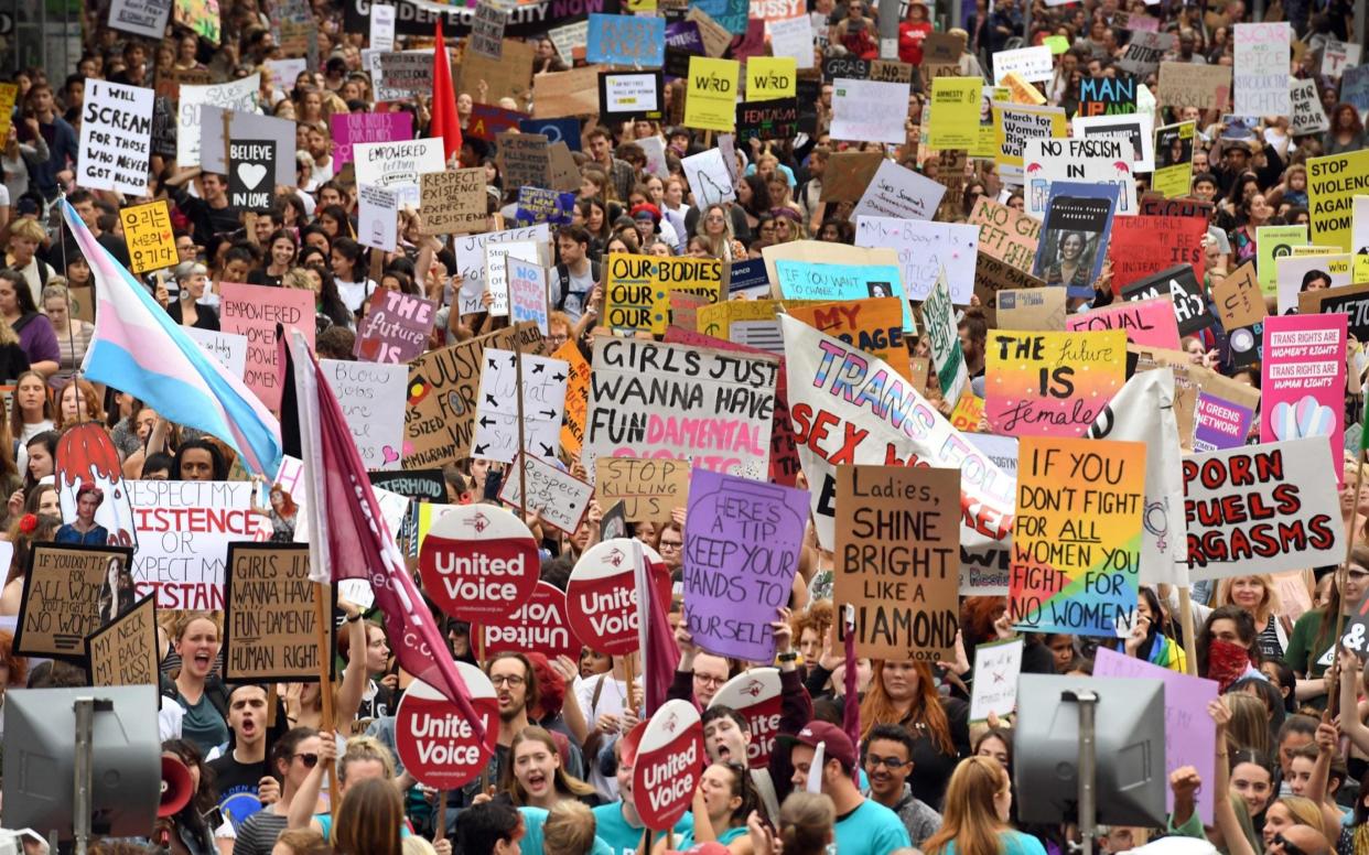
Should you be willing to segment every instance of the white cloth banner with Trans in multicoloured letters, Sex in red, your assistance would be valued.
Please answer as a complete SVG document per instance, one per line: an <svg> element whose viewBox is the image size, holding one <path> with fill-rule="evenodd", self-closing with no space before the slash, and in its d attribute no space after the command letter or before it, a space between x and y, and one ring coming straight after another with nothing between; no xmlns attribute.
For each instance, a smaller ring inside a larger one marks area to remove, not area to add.
<svg viewBox="0 0 1369 855"><path fill-rule="evenodd" d="M962 471L962 543L979 546L1006 536L1012 479L953 430L917 389L880 360L801 320L782 316L780 328L790 417L823 549L834 549L836 542L836 465L890 465L912 457ZM862 397L867 389L880 390L891 405L876 406L875 398ZM847 397L846 390L853 394ZM901 427L914 423L925 430L909 434Z"/></svg>

